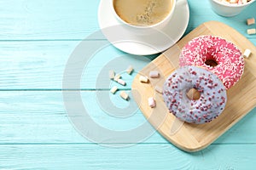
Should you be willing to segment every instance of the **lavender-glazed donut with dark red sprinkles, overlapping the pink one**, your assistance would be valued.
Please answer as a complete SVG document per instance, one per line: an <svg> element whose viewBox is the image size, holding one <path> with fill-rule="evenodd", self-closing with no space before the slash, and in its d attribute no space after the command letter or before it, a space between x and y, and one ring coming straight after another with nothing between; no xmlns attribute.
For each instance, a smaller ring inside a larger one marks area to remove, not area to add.
<svg viewBox="0 0 256 170"><path fill-rule="evenodd" d="M191 89L200 93L198 99L189 98ZM168 110L178 119L202 124L211 122L224 111L227 94L224 84L211 71L184 66L166 79L163 98Z"/></svg>

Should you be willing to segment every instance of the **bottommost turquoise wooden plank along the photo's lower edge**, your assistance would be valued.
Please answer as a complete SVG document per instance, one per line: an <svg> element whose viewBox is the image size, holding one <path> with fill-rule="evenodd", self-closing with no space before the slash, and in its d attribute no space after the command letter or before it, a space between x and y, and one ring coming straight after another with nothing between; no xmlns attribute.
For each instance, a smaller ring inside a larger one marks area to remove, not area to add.
<svg viewBox="0 0 256 170"><path fill-rule="evenodd" d="M248 169L256 144L214 144L189 154L171 144L108 148L96 144L1 144L1 169Z"/></svg>

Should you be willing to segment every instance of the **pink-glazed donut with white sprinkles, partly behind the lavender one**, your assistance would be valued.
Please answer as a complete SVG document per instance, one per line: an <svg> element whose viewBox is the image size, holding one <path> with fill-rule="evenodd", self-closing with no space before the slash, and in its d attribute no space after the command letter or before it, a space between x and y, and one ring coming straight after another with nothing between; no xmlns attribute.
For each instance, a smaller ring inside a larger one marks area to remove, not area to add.
<svg viewBox="0 0 256 170"><path fill-rule="evenodd" d="M179 64L197 65L212 71L226 89L235 85L244 71L244 59L236 45L214 36L200 36L189 41L182 48Z"/></svg>

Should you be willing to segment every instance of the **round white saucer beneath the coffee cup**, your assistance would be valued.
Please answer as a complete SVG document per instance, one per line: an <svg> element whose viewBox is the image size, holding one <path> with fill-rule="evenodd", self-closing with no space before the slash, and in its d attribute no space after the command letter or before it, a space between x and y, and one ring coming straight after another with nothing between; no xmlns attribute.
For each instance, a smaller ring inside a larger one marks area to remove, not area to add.
<svg viewBox="0 0 256 170"><path fill-rule="evenodd" d="M154 34L138 35L123 26L111 11L112 0L102 0L98 8L98 21L102 33L113 46L136 55L158 54L172 47L186 31L189 24L189 4L177 4L171 24Z"/></svg>

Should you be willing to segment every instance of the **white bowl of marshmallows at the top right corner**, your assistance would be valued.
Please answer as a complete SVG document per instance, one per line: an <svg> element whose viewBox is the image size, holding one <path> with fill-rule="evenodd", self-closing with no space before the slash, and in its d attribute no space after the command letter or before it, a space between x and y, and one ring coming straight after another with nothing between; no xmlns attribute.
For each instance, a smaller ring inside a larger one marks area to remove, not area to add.
<svg viewBox="0 0 256 170"><path fill-rule="evenodd" d="M212 10L222 16L235 16L240 14L241 11L250 4L254 3L255 0L251 0L249 3L244 4L232 4L232 3L222 3L218 0L209 0L212 5Z"/></svg>

